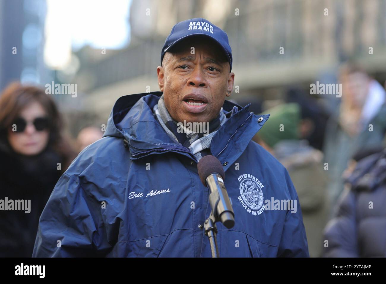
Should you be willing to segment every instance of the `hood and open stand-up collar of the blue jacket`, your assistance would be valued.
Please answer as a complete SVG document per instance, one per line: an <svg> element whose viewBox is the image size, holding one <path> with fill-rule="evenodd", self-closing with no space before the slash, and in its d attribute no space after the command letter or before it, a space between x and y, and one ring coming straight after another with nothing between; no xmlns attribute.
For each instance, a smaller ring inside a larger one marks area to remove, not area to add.
<svg viewBox="0 0 386 284"><path fill-rule="evenodd" d="M195 160L188 148L172 141L153 114L163 92L125 95L114 104L107 121L105 136L122 138L135 160L154 152L177 151ZM214 156L241 155L252 137L259 131L269 114L255 115L244 108L225 100L223 110L227 121L212 138L210 150ZM234 155L231 155L232 152ZM238 157L237 156L237 157Z"/></svg>

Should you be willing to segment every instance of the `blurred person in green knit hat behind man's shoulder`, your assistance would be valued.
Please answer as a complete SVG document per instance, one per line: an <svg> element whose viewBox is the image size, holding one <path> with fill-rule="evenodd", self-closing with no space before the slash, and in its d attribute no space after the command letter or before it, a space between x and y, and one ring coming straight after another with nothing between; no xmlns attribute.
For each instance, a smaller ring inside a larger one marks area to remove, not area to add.
<svg viewBox="0 0 386 284"><path fill-rule="evenodd" d="M254 141L275 156L288 170L298 192L310 257L322 256L323 228L328 218L328 200L323 154L302 136L305 122L296 103L281 104L264 111L270 114ZM283 127L281 128L281 125ZM282 131L281 131L282 130Z"/></svg>

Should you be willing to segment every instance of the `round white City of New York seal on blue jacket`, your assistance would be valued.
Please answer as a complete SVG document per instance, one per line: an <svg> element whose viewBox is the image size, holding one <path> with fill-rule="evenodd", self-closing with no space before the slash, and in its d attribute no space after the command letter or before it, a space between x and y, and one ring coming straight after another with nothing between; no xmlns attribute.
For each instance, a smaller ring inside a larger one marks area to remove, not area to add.
<svg viewBox="0 0 386 284"><path fill-rule="evenodd" d="M254 175L240 175L240 196L238 197L242 206L252 215L260 215L264 210L264 185Z"/></svg>

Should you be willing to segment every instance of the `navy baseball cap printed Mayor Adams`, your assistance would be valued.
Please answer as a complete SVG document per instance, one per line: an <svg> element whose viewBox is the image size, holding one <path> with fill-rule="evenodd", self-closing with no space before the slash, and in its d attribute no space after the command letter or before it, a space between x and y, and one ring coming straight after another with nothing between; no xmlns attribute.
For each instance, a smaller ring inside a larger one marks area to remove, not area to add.
<svg viewBox="0 0 386 284"><path fill-rule="evenodd" d="M197 35L210 37L221 46L225 55L227 56L230 67L229 71L231 71L232 49L229 45L227 33L204 18L189 19L174 25L169 36L166 38L165 44L161 51L161 66L164 55L169 48L174 46L174 44L179 43L186 37Z"/></svg>

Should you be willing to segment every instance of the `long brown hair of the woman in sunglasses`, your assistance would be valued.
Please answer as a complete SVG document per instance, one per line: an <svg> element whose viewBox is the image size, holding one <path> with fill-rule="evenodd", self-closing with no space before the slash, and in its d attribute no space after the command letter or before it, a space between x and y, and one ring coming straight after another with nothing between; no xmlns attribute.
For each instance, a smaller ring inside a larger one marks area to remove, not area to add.
<svg viewBox="0 0 386 284"><path fill-rule="evenodd" d="M54 100L44 89L35 86L23 86L19 82L10 83L0 95L0 133L2 142L8 145L7 129L12 125L20 111L32 102L38 102L47 112L50 119L50 145L62 158L64 172L76 153L69 143L69 138L63 134L64 122Z"/></svg>

